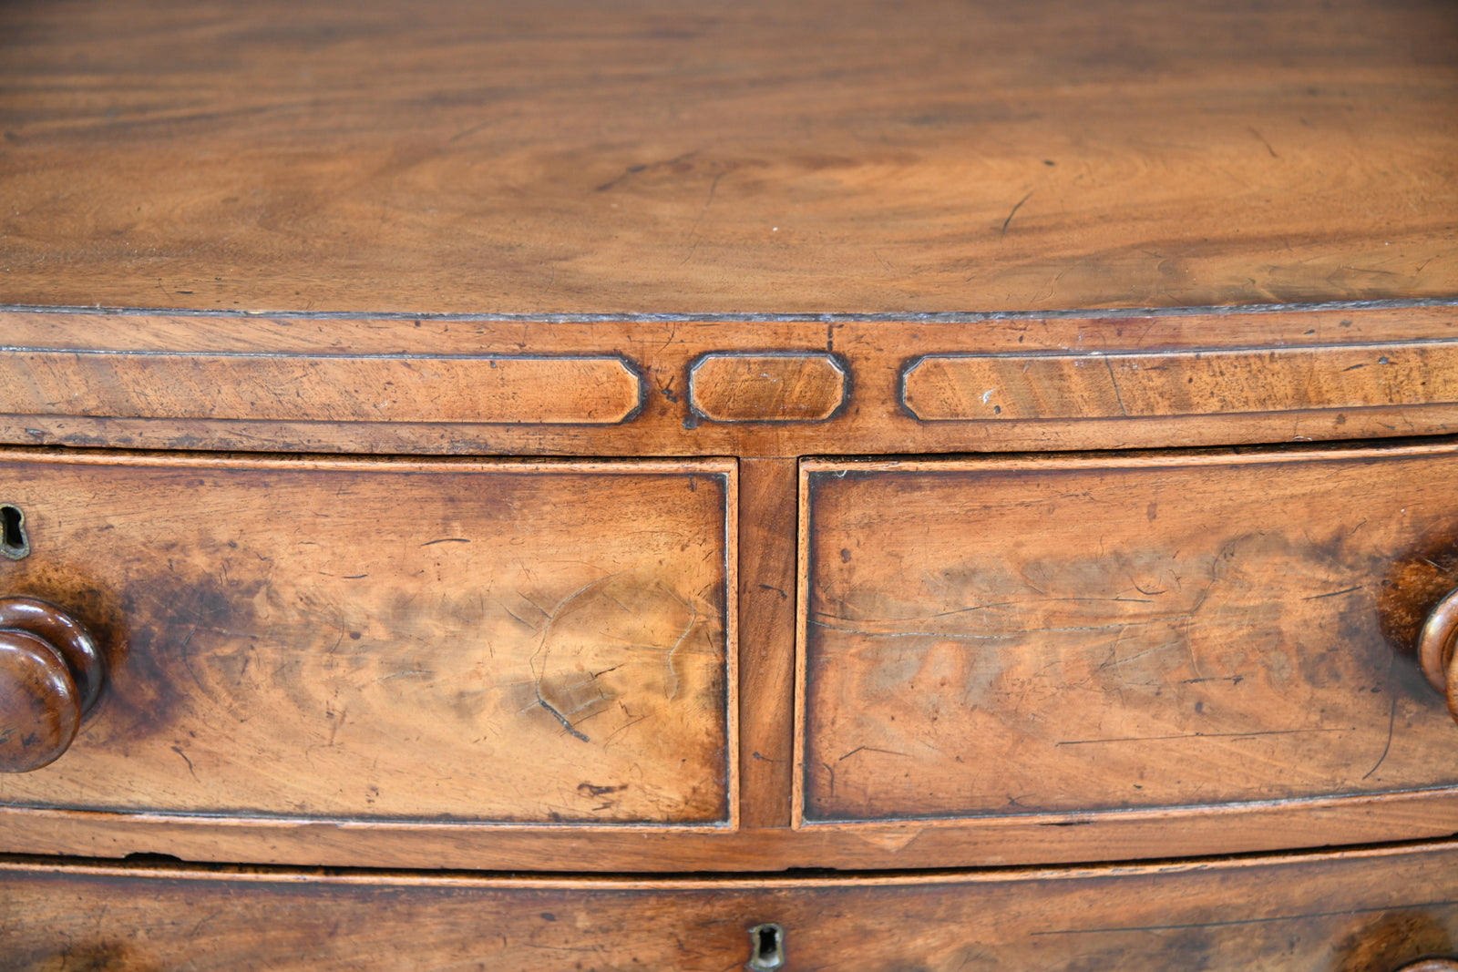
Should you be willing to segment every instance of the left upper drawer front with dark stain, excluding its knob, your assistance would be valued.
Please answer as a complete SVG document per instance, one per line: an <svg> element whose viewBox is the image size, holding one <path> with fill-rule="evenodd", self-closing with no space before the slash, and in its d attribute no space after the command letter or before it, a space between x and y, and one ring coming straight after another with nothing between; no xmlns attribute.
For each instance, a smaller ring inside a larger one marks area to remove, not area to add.
<svg viewBox="0 0 1458 972"><path fill-rule="evenodd" d="M12 453L112 670L0 804L726 826L733 469Z"/></svg>

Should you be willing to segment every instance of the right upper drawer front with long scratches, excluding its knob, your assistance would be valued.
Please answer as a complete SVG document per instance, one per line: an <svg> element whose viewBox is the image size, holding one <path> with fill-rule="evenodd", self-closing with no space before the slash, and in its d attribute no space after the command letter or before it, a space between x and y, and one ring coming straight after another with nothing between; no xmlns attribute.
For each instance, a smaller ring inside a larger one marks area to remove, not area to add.
<svg viewBox="0 0 1458 972"><path fill-rule="evenodd" d="M1395 644L1458 587L1455 472L1451 446L806 463L800 822L1458 785Z"/></svg>

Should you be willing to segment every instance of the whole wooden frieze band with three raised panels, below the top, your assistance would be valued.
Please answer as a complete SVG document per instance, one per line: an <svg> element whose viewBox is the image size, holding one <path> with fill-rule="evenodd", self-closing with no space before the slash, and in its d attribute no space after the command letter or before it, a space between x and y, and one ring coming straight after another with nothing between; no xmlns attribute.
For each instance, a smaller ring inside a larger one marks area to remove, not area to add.
<svg viewBox="0 0 1458 972"><path fill-rule="evenodd" d="M1455 342L1455 305L531 324L16 310L0 312L0 442L798 458L1391 439L1458 433Z"/></svg>

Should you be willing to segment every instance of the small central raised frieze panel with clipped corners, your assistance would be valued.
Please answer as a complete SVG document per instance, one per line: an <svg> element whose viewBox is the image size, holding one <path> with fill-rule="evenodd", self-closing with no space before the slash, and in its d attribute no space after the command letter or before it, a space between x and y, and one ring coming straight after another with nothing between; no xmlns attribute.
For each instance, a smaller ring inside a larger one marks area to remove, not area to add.
<svg viewBox="0 0 1458 972"><path fill-rule="evenodd" d="M688 372L688 399L710 421L825 421L847 385L834 354L706 354Z"/></svg>

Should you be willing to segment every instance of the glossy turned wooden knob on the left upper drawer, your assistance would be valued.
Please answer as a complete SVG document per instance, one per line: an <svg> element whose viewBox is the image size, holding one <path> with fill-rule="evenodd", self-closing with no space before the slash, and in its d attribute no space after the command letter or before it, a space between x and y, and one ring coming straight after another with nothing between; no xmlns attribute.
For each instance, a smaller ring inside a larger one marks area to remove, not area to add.
<svg viewBox="0 0 1458 972"><path fill-rule="evenodd" d="M0 772L55 762L101 694L106 662L69 614L0 597Z"/></svg>

